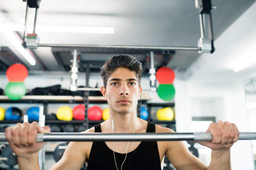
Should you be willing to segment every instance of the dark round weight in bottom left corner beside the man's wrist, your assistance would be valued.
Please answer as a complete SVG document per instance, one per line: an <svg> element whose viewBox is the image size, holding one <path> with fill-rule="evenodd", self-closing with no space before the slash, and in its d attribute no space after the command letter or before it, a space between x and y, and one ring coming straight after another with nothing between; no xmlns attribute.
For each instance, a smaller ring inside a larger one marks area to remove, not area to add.
<svg viewBox="0 0 256 170"><path fill-rule="evenodd" d="M12 148L9 145L7 145L3 149L1 157L6 157L7 160L3 160L3 162L11 167L15 164L18 164L17 155L13 152Z"/></svg>

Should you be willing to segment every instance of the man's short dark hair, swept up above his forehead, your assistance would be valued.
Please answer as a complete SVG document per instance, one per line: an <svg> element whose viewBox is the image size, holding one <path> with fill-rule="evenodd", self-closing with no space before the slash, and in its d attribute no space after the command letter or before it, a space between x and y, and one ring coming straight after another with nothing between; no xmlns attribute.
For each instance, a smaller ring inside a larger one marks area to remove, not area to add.
<svg viewBox="0 0 256 170"><path fill-rule="evenodd" d="M116 71L117 68L128 68L130 71L134 71L140 86L140 79L142 76L142 66L136 58L129 55L115 55L110 59L107 59L103 67L100 69L100 75L103 79L104 87L107 88L108 78Z"/></svg>

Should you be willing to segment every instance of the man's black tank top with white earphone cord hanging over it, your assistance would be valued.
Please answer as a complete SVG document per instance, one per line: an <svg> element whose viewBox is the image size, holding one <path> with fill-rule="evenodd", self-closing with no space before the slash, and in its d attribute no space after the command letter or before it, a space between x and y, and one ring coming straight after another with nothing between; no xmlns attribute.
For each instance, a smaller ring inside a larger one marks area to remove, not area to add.
<svg viewBox="0 0 256 170"><path fill-rule="evenodd" d="M101 126L95 125L95 132L102 132ZM148 122L147 133L156 132L155 123ZM113 150L105 142L93 142L88 159L87 170L121 170L121 165L125 160L122 170L161 170L161 162L157 142L141 142L133 151L127 153L117 153L116 164Z"/></svg>

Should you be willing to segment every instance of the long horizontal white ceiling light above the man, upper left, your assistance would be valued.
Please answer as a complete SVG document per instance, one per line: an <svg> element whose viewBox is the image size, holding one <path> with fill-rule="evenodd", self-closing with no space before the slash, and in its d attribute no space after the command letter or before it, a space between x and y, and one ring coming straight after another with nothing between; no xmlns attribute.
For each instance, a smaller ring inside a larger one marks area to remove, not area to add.
<svg viewBox="0 0 256 170"><path fill-rule="evenodd" d="M6 24L9 31L24 31L24 25ZM33 26L28 26L28 31L33 31ZM70 32L70 33L99 33L113 34L113 27L93 27L93 26L36 26L37 32Z"/></svg>

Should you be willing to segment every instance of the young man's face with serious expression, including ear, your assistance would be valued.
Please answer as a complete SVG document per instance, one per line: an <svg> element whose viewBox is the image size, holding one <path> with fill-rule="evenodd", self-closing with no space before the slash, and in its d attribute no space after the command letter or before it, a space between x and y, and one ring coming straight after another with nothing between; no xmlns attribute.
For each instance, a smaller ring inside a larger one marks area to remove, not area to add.
<svg viewBox="0 0 256 170"><path fill-rule="evenodd" d="M136 109L141 91L135 72L127 68L118 68L108 78L106 90L108 105L117 113L131 113Z"/></svg>

